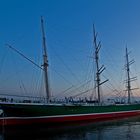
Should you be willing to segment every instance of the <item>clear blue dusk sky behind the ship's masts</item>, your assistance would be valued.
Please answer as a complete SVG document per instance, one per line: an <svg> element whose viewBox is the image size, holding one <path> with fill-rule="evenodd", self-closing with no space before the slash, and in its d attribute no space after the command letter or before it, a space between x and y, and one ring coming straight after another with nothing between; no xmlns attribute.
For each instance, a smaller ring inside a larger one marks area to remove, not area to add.
<svg viewBox="0 0 140 140"><path fill-rule="evenodd" d="M130 57L136 61L132 75L137 75L140 79L139 0L1 0L1 90L5 88L12 91L12 88L23 91L23 85L26 85L30 91L30 84L41 85L37 80L37 77L41 79L39 70L5 47L9 43L41 65L41 15L45 19L53 95L58 95L73 85L80 86L87 77L92 79L89 69L93 66L93 23L102 42L101 63L107 69L104 75L110 79L108 86L113 84L116 89L124 87L120 83L124 84L126 44L131 51ZM84 89L76 93L81 91ZM106 92L111 91L106 89Z"/></svg>

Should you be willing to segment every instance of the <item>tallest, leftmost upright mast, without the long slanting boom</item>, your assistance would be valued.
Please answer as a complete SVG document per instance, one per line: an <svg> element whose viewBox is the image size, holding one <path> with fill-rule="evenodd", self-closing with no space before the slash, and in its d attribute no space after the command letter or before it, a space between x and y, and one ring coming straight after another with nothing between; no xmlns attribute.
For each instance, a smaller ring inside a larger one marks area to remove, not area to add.
<svg viewBox="0 0 140 140"><path fill-rule="evenodd" d="M41 17L41 29L42 29L42 45L43 45L43 69L45 76L45 90L47 95L47 103L50 102L50 91L49 91L49 82L48 82L48 57L47 57L47 49L46 49L46 38L44 31L44 21L43 17Z"/></svg>

